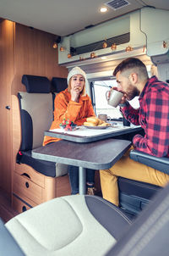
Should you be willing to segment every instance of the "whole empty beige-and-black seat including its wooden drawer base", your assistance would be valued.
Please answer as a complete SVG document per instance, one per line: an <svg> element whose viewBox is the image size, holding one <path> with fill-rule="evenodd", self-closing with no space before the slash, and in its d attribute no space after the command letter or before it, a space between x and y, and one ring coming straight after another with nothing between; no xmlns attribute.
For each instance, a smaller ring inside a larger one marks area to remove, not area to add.
<svg viewBox="0 0 169 256"><path fill-rule="evenodd" d="M19 92L18 97L12 96L13 207L19 212L52 198L70 194L67 164L33 159L31 156L32 149L41 147L44 131L50 129L53 99L57 92L51 92L51 82L45 76L23 75L22 83L26 92ZM61 194L59 189L63 191Z"/></svg>

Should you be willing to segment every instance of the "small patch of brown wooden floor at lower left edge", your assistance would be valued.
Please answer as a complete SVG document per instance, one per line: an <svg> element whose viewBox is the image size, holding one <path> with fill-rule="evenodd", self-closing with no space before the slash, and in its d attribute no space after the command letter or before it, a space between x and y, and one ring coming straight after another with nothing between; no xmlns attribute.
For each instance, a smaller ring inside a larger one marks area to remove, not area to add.
<svg viewBox="0 0 169 256"><path fill-rule="evenodd" d="M16 212L11 207L8 194L0 188L0 218L3 220L4 223L6 223L17 214L18 212Z"/></svg>

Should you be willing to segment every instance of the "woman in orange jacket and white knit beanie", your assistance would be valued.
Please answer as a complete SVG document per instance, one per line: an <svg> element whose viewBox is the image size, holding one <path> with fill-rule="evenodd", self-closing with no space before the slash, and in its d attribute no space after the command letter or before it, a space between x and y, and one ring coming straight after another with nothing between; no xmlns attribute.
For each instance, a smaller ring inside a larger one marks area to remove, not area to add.
<svg viewBox="0 0 169 256"><path fill-rule="evenodd" d="M83 125L86 118L95 116L91 99L85 92L87 78L85 71L74 67L68 73L68 88L55 97L54 120L50 129L59 128L63 120L71 120L75 125ZM45 136L43 146L51 142L59 141L59 138ZM79 169L76 166L68 166L68 174L72 194L79 193ZM95 170L87 169L87 193L94 194Z"/></svg>

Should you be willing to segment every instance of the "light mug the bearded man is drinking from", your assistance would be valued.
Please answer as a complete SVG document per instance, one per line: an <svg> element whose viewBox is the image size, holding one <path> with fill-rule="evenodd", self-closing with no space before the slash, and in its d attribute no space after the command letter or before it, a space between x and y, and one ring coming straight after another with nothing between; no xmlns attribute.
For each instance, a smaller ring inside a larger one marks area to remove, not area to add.
<svg viewBox="0 0 169 256"><path fill-rule="evenodd" d="M123 97L123 92L117 90L111 90L106 92L106 100L109 105L116 108L117 105L121 102Z"/></svg>

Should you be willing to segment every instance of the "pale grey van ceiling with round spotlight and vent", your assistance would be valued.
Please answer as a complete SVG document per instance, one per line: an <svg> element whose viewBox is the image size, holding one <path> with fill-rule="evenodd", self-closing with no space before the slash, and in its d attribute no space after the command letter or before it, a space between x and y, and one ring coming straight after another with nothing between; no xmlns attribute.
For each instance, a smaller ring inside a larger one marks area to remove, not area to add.
<svg viewBox="0 0 169 256"><path fill-rule="evenodd" d="M108 12L99 9L109 4ZM34 27L58 36L68 36L144 6L169 10L169 0L0 0L0 18ZM116 6L116 9L111 8Z"/></svg>

